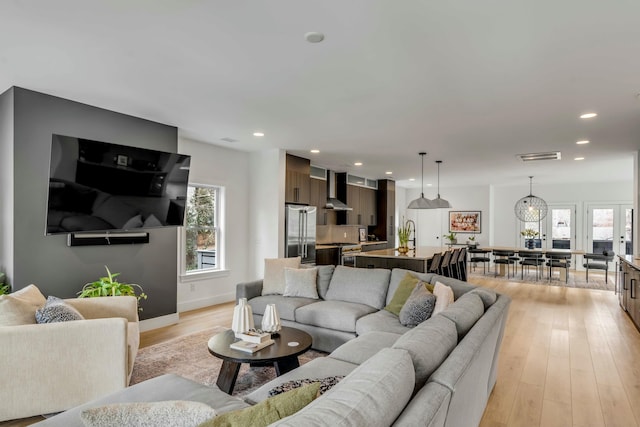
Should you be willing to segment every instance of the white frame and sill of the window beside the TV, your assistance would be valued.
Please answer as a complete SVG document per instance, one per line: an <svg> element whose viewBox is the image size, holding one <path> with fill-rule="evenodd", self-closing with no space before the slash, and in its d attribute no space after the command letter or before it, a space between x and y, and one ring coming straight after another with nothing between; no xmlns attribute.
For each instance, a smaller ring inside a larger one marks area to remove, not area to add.
<svg viewBox="0 0 640 427"><path fill-rule="evenodd" d="M225 187L219 184L189 183L189 187L213 188L216 190L214 207L214 225L216 234L216 267L187 271L187 230L186 215L185 224L179 227L180 251L180 281L191 282L210 277L221 277L229 274L226 269L226 245L225 245ZM189 203L188 199L186 203ZM185 210L187 206L185 205Z"/></svg>

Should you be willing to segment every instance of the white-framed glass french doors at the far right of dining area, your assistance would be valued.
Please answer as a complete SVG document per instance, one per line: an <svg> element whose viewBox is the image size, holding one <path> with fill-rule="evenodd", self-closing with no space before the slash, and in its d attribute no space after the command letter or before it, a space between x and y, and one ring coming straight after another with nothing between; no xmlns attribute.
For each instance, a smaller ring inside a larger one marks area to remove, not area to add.
<svg viewBox="0 0 640 427"><path fill-rule="evenodd" d="M587 205L587 252L633 253L633 208L627 204Z"/></svg>

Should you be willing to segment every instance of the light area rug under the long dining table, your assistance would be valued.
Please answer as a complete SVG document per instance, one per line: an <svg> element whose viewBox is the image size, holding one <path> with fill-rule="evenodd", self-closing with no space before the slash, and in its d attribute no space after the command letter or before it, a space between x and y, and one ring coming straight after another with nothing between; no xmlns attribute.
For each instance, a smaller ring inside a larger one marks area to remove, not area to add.
<svg viewBox="0 0 640 427"><path fill-rule="evenodd" d="M569 271L569 280L568 283L565 283L564 280L560 280L558 278L557 271L554 273L554 277L552 280L549 280L547 277L547 270L544 270L543 277L538 278L536 280L535 270L531 270L529 274L525 273L524 278L521 279L520 271L518 270L518 274L512 277L507 276L494 276L493 270L487 272L486 274L482 273L482 266L476 267L476 271L469 271L469 276L467 281L470 283L482 282L483 280L498 280L498 281L509 281L514 283L529 283L533 285L540 286L563 286L566 288L583 288L583 289L600 289L605 291L613 291L615 288L615 273L609 272L609 281L605 282L604 280L604 272L590 272L589 273L589 282L587 282L584 271ZM481 283L479 283L481 284Z"/></svg>

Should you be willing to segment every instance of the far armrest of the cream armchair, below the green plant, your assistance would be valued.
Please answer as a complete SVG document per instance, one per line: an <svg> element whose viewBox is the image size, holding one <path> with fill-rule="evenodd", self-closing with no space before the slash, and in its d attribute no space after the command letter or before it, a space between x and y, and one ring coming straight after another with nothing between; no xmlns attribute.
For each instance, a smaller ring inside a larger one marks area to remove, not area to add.
<svg viewBox="0 0 640 427"><path fill-rule="evenodd" d="M73 306L85 319L124 317L138 322L138 300L133 296L69 298L64 302Z"/></svg>

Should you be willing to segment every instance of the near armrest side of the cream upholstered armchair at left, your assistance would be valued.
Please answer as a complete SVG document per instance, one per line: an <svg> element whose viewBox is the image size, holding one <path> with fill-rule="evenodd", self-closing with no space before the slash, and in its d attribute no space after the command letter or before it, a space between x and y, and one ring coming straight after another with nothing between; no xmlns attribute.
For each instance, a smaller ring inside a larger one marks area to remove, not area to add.
<svg viewBox="0 0 640 427"><path fill-rule="evenodd" d="M64 411L127 384L121 317L0 327L0 421Z"/></svg>

